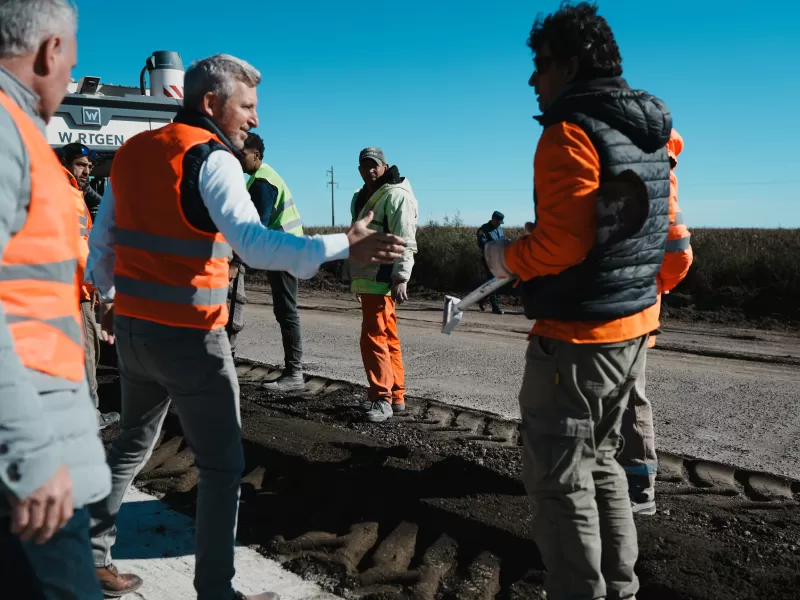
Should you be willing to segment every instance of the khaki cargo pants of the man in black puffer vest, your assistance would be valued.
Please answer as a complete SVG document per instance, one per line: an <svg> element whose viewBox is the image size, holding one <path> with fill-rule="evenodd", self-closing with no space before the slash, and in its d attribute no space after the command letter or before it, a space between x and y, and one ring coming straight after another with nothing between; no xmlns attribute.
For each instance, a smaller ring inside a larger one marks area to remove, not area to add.
<svg viewBox="0 0 800 600"><path fill-rule="evenodd" d="M615 459L647 336L571 344L532 336L519 395L523 481L550 600L634 598L638 557Z"/></svg>

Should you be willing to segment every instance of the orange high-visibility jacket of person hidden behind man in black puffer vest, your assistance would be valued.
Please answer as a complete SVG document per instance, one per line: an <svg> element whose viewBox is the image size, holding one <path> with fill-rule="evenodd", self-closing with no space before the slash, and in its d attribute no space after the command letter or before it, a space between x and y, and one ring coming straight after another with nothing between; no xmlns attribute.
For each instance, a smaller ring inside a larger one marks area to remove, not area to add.
<svg viewBox="0 0 800 600"><path fill-rule="evenodd" d="M676 129L667 142L667 153L672 161L672 169L669 173L669 234L667 236L667 252L664 254L664 262L661 263L661 271L658 273L659 292L669 292L674 289L689 273L692 266L694 253L692 252L689 229L683 220L681 207L678 205L678 176L675 175L675 167L678 166L678 155L683 152L683 138ZM661 294L658 297L659 307L661 305ZM656 336L650 336L648 347L656 345Z"/></svg>

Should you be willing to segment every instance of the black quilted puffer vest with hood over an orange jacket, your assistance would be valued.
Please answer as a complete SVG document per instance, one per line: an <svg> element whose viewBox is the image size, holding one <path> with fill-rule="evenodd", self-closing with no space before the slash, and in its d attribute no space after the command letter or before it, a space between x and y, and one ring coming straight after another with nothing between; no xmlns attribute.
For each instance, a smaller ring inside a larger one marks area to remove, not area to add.
<svg viewBox="0 0 800 600"><path fill-rule="evenodd" d="M633 171L647 186L649 210L641 228L623 239L596 244L583 262L558 275L523 282L525 315L609 321L652 306L669 229L669 110L661 100L631 90L624 79L609 78L577 84L537 120L545 129L563 122L579 126L600 157L600 184Z"/></svg>

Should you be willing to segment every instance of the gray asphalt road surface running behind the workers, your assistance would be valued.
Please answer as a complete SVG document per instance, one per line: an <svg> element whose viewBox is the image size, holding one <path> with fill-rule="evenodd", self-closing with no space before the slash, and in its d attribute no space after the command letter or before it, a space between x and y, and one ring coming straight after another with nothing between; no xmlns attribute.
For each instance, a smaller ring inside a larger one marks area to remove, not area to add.
<svg viewBox="0 0 800 600"><path fill-rule="evenodd" d="M283 361L269 294L248 291L237 355ZM304 363L310 374L366 383L354 298L301 298ZM530 322L521 314L469 311L451 335L435 304L398 312L409 395L518 418L517 394ZM800 338L752 330L678 324L648 354L648 395L657 446L694 458L800 479ZM666 350L670 348L670 350ZM703 356L753 355L761 361Z"/></svg>

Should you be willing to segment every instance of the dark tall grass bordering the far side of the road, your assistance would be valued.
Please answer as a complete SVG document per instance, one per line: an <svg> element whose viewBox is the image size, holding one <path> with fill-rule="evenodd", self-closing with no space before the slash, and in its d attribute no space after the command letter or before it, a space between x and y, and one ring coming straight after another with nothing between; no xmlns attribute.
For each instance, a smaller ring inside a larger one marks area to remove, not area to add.
<svg viewBox="0 0 800 600"><path fill-rule="evenodd" d="M465 293L484 274L476 227L457 220L419 228L412 291ZM309 228L308 233L343 229ZM506 229L516 239L522 229ZM727 313L747 320L800 321L800 229L694 229L695 262L686 280L666 298L675 309ZM321 279L331 285L337 265Z"/></svg>

